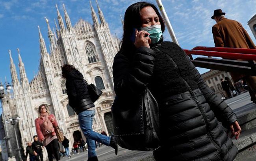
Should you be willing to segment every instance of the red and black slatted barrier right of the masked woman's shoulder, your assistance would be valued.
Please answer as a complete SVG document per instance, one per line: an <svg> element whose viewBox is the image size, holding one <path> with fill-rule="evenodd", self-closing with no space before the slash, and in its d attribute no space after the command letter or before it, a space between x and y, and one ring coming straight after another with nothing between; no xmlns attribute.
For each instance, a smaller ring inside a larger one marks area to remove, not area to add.
<svg viewBox="0 0 256 161"><path fill-rule="evenodd" d="M256 76L256 63L254 63L254 60L256 61L256 49L197 46L192 50L184 49L184 51L197 67ZM208 57L198 57L193 60L192 55Z"/></svg>

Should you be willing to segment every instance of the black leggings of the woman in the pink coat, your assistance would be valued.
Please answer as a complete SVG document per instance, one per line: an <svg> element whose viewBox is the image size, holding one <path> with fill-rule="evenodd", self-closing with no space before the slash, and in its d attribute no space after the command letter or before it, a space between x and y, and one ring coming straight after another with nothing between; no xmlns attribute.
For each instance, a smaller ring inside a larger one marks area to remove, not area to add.
<svg viewBox="0 0 256 161"><path fill-rule="evenodd" d="M45 146L49 161L52 161L52 154L55 156L56 160L60 160L59 156L59 143L58 139L53 139L48 145Z"/></svg>

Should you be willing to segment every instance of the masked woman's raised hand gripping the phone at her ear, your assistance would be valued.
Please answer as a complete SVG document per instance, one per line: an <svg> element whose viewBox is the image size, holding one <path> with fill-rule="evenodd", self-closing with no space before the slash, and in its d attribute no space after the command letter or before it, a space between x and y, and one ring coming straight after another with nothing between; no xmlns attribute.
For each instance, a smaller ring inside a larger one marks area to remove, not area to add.
<svg viewBox="0 0 256 161"><path fill-rule="evenodd" d="M150 33L148 33L147 31L138 31L137 29L135 29L134 45L136 48L139 48L141 46L150 48L149 44L151 44L151 39L149 36L145 37L145 35L150 35Z"/></svg>

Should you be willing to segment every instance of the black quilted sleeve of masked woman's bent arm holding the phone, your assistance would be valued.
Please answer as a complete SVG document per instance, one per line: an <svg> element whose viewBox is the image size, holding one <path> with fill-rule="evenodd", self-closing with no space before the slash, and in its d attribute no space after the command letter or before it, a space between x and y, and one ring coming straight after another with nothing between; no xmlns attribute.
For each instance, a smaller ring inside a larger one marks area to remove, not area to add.
<svg viewBox="0 0 256 161"><path fill-rule="evenodd" d="M154 69L154 51L147 47L136 49L128 59L120 51L114 58L113 78L116 95L139 95L150 81Z"/></svg>

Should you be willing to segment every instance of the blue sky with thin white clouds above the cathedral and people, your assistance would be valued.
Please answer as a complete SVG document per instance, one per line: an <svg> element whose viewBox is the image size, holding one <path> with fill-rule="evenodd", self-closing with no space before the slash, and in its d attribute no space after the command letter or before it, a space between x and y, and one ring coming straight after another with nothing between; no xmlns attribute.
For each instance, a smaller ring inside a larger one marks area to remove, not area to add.
<svg viewBox="0 0 256 161"><path fill-rule="evenodd" d="M112 34L122 36L122 24L119 15L124 17L126 8L139 2L139 0L98 0ZM147 0L156 4L155 0ZM195 46L214 46L211 27L215 21L210 17L214 9L222 9L226 12L226 18L234 19L245 27L252 40L255 38L247 25L248 20L256 14L256 0L162 0L169 20L173 26L178 42L183 49L191 49ZM41 28L46 46L49 46L45 16L50 26L54 26L54 18L57 19L55 4L58 4L61 15L64 18L62 4L65 4L72 25L79 18L92 23L89 0L0 0L0 78L11 82L9 70L9 54L11 49L17 72L18 54L25 64L28 79L33 79L39 66L39 36L37 26ZM93 7L97 12L95 0ZM57 22L58 23L58 22ZM171 40L168 31L165 31L165 40ZM49 49L49 48L48 48ZM48 50L49 51L49 50ZM208 71L199 69L200 73Z"/></svg>

